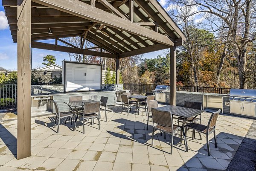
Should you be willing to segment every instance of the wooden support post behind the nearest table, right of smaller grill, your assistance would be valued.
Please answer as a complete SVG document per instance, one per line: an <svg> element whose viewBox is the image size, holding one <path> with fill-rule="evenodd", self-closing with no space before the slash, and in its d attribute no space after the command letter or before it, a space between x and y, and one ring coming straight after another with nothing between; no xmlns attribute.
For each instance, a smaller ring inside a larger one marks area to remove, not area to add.
<svg viewBox="0 0 256 171"><path fill-rule="evenodd" d="M176 105L176 47L170 48L170 104Z"/></svg>

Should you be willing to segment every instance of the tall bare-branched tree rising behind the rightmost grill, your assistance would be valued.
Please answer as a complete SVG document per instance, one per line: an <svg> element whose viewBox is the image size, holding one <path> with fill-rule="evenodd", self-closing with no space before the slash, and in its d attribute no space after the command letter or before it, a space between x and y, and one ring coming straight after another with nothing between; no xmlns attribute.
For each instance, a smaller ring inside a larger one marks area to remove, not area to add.
<svg viewBox="0 0 256 171"><path fill-rule="evenodd" d="M248 46L256 40L256 1L255 0L182 0L185 6L198 7L199 12L209 14L209 23L214 30L226 30L227 40L233 46L238 63L239 87L247 88ZM223 23L223 24L221 24Z"/></svg>

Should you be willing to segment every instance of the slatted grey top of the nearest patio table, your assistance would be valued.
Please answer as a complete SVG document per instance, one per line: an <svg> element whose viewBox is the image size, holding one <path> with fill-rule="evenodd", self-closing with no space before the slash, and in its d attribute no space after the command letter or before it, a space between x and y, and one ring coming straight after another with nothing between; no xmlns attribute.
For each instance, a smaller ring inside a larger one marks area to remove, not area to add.
<svg viewBox="0 0 256 171"><path fill-rule="evenodd" d="M194 117L205 112L205 110L198 110L198 109L192 109L192 108L174 106L174 105L157 107L157 110L172 112L172 115L180 116L183 118Z"/></svg>

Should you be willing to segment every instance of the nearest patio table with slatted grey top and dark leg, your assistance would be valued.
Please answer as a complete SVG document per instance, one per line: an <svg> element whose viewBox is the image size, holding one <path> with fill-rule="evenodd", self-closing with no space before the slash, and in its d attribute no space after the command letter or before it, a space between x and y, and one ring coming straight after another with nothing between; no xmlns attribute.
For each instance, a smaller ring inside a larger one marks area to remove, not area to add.
<svg viewBox="0 0 256 171"><path fill-rule="evenodd" d="M172 115L180 116L180 117L184 118L183 123L182 123L182 133L183 133L183 138L184 138L184 142L185 142L185 146L186 146L186 152L187 152L188 151L188 145L187 145L186 134L185 134L185 129L184 129L186 119L188 119L190 117L198 116L199 114L205 112L205 110L198 110L198 109L192 109L192 108L180 107L180 106L174 106L174 105L157 107L157 110L172 112Z"/></svg>

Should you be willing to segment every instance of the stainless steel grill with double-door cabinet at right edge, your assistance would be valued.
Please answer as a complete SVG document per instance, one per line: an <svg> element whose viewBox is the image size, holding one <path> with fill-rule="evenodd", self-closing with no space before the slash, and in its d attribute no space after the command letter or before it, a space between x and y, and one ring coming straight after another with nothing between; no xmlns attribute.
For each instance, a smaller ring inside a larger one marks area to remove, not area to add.
<svg viewBox="0 0 256 171"><path fill-rule="evenodd" d="M230 113L256 117L256 90L231 89Z"/></svg>

